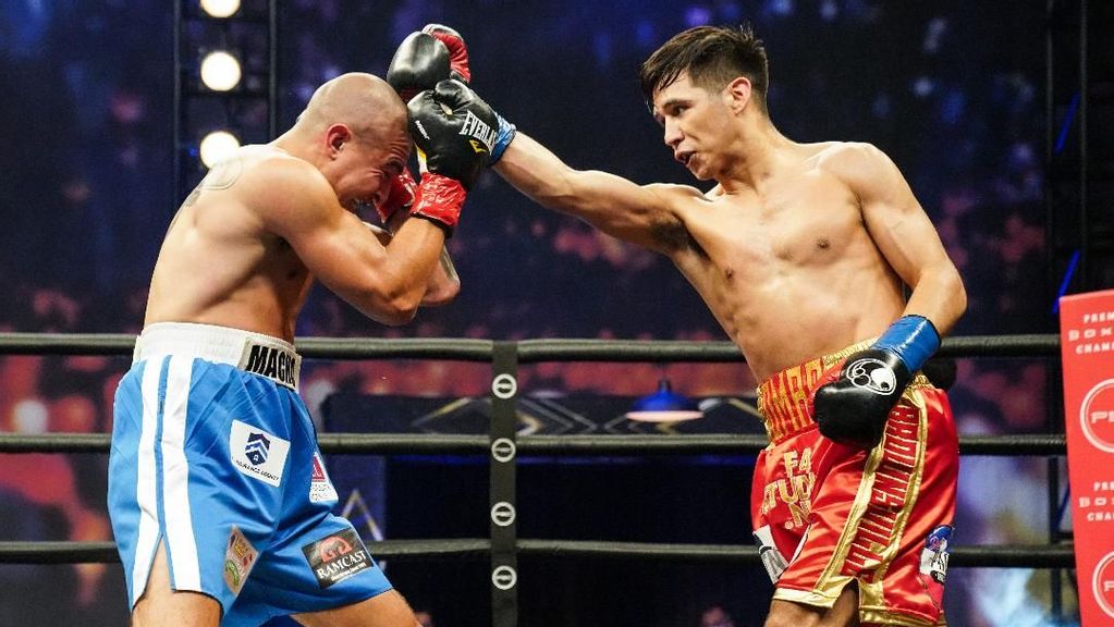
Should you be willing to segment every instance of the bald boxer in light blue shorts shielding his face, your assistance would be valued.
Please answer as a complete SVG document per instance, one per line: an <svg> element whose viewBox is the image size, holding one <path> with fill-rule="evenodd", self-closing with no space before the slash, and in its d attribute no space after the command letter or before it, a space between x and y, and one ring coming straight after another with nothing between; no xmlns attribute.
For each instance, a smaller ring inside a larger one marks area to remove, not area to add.
<svg viewBox="0 0 1114 627"><path fill-rule="evenodd" d="M487 158L463 120L497 121L457 109L431 120L443 128L414 183L394 88L340 76L182 204L116 394L108 506L133 626L417 625L331 512L293 335L314 278L391 325L459 292L444 241ZM384 228L363 223L361 205Z"/></svg>

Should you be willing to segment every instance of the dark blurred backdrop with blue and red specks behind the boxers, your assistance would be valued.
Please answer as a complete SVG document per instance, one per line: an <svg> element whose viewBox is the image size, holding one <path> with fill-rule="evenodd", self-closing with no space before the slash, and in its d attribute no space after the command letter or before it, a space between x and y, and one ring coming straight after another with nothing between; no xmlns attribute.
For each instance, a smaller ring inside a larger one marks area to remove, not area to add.
<svg viewBox="0 0 1114 627"><path fill-rule="evenodd" d="M245 2L245 11L266 3ZM505 117L579 168L638 183L692 183L642 101L638 65L698 23L750 21L771 58L774 124L798 141L870 141L901 167L967 283L957 335L1056 329L1059 276L1048 264L1043 206L1045 3L715 0L280 2L278 127L322 81L382 75L398 42L431 21L466 37L473 87ZM248 71L266 58L251 26L209 35ZM9 0L0 4L0 329L137 332L158 243L201 175L193 154L174 168L174 21L168 3ZM195 62L185 55L184 62ZM254 69L253 69L254 68ZM198 99L201 102L201 99ZM198 104L184 139L219 126L264 141L265 108L250 98ZM1069 139L1071 141L1071 139ZM184 196L184 192L180 194ZM385 330L323 291L299 332L372 337L620 337L725 340L664 258L534 206L487 174L469 197L450 251L463 282L451 305ZM0 429L106 431L127 360L0 359ZM334 394L482 395L487 366L442 362L310 362L303 394L316 419ZM526 393L631 399L667 374L693 396L746 398L742 364L539 364ZM1039 360L960 360L951 398L965 433L1033 433L1048 424ZM619 403L622 404L622 403ZM615 408L618 408L616 404ZM599 410L606 422L620 409ZM609 413L608 413L609 412ZM349 417L381 430L381 414ZM740 419L754 429L750 417ZM351 421L350 421L351 423ZM324 427L324 424L323 424ZM734 428L733 428L734 429ZM553 463L549 463L549 462ZM330 461L330 464L345 464ZM369 472L375 467L368 462ZM750 460L538 460L519 474L522 537L749 542ZM389 538L486 536L486 466L401 458L380 483ZM109 539L99 455L0 455L3 539ZM380 468L383 470L383 468ZM1044 460L966 458L961 545L1047 538ZM343 499L343 494L342 494ZM764 574L727 566L522 560L529 625L697 625L724 605L759 625ZM389 575L441 627L488 621L481 562L389 565ZM1048 574L955 569L955 625L1048 624ZM0 616L23 624L123 625L118 566L0 566ZM595 590L595 592L585 592ZM1071 590L1065 591L1071 606ZM465 601L462 599L469 599ZM475 604L461 607L457 604ZM574 609L579 608L579 609ZM1068 608L1071 613L1071 607Z"/></svg>

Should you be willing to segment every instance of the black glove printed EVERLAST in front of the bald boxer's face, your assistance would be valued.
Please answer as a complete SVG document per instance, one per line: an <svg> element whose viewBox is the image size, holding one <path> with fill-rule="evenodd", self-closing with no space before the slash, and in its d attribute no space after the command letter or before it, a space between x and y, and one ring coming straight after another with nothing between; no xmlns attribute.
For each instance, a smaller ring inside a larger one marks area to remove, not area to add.
<svg viewBox="0 0 1114 627"><path fill-rule="evenodd" d="M429 172L470 188L498 136L498 116L491 107L467 85L450 79L414 96L407 109L410 136Z"/></svg>

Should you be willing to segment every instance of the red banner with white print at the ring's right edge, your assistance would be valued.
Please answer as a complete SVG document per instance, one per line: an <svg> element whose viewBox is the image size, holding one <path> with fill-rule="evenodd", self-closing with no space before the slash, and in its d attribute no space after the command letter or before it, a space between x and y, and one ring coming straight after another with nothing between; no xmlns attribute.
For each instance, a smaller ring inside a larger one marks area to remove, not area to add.
<svg viewBox="0 0 1114 627"><path fill-rule="evenodd" d="M1059 301L1079 615L1114 625L1114 290Z"/></svg>

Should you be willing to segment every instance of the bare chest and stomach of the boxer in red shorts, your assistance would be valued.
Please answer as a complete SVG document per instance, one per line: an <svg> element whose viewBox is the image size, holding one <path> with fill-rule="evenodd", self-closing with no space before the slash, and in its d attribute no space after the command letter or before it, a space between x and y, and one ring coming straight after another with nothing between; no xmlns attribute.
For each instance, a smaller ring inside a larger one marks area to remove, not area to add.
<svg viewBox="0 0 1114 627"><path fill-rule="evenodd" d="M692 237L668 254L759 380L878 335L905 308L858 196L825 167L849 150L862 148L794 145L761 189L676 193L674 228Z"/></svg>

